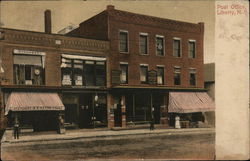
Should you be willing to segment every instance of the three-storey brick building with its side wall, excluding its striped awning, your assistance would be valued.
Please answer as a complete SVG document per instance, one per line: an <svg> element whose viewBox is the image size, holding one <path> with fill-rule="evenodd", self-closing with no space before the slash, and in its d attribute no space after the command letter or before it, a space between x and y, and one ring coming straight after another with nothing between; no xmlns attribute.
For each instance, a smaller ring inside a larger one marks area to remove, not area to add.
<svg viewBox="0 0 250 161"><path fill-rule="evenodd" d="M170 92L205 91L204 23L140 15L109 5L67 35L110 42L110 127L147 122L152 115L157 124L173 125Z"/></svg>

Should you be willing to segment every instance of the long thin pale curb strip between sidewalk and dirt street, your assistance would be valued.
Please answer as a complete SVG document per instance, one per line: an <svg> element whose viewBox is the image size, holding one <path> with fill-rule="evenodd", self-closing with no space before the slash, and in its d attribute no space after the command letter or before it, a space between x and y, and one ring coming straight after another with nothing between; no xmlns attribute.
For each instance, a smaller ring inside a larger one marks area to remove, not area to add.
<svg viewBox="0 0 250 161"><path fill-rule="evenodd" d="M206 133L215 133L214 129L206 130L175 130L175 131L159 131L159 132L144 132L144 133L131 133L131 134L114 134L114 135L96 135L96 136L78 136L78 137L69 137L69 138L49 138L49 139L37 139L37 140L15 140L15 141L3 141L2 144L19 144L19 143L34 143L34 142L43 142L43 141L58 141L58 140L78 140L78 139L94 139L94 138L109 138L109 137L121 137L121 136L139 136L139 135L186 135L186 134L206 134Z"/></svg>

